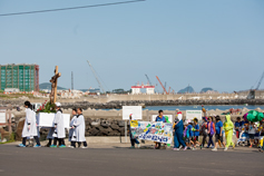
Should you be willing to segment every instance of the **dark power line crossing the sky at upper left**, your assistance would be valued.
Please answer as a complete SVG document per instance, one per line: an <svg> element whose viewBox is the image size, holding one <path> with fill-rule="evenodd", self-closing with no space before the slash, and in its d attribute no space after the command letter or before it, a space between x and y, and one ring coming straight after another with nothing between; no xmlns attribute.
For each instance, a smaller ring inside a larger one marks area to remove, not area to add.
<svg viewBox="0 0 264 176"><path fill-rule="evenodd" d="M97 7L104 7L104 6L124 4L124 3L133 3L133 2L140 2L140 1L146 1L146 0L134 0L134 1L101 3L101 4L81 6L81 7L72 7L72 8L37 10L37 11L25 11L25 12L16 12L16 13L3 13L3 14L0 14L0 17L3 17L3 16L20 16L20 14L30 14L30 13L43 13L43 12L62 11L62 10L76 10L76 9L85 9L85 8L97 8Z"/></svg>

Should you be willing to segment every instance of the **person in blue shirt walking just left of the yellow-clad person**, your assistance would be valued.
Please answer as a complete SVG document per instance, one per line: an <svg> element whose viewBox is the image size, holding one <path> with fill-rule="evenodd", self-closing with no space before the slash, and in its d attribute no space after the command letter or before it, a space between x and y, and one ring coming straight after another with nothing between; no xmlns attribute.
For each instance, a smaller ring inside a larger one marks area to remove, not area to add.
<svg viewBox="0 0 264 176"><path fill-rule="evenodd" d="M217 146L218 146L218 141L221 141L221 144L223 144L223 146L225 147L225 143L223 141L223 135L224 135L224 130L223 130L223 123L221 121L221 117L216 116L216 124L215 124L215 148L213 148L213 151L217 151Z"/></svg>

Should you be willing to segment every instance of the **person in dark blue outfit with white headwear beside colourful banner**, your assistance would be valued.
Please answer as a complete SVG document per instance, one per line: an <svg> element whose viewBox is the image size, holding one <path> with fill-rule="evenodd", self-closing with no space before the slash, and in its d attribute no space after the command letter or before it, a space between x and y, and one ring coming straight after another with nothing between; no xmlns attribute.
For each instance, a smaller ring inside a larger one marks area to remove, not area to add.
<svg viewBox="0 0 264 176"><path fill-rule="evenodd" d="M179 144L184 147L184 150L187 149L184 139L183 139L183 133L184 133L184 124L182 119L182 114L178 114L178 117L175 119L174 123L174 150L179 150Z"/></svg>

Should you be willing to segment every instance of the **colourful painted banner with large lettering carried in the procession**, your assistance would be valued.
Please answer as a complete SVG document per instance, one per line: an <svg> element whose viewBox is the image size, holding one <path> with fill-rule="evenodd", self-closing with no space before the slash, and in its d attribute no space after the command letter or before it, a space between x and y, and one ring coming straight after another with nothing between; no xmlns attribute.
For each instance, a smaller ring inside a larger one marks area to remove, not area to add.
<svg viewBox="0 0 264 176"><path fill-rule="evenodd" d="M130 130L133 137L138 137L143 140L153 140L165 144L172 144L173 141L173 125L168 123L131 120Z"/></svg>

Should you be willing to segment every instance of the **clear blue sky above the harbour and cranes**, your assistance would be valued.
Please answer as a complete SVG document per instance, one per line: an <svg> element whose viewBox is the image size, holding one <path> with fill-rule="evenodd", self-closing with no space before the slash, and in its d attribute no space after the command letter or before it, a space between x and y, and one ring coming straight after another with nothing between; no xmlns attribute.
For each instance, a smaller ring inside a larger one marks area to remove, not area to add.
<svg viewBox="0 0 264 176"><path fill-rule="evenodd" d="M0 0L0 13L117 1ZM263 9L263 0L147 0L0 17L0 63L38 63L40 82L58 65L66 88L71 71L75 88L98 87L89 60L110 90L147 82L145 74L176 91L250 89L264 70Z"/></svg>

